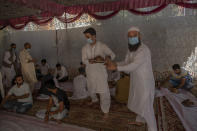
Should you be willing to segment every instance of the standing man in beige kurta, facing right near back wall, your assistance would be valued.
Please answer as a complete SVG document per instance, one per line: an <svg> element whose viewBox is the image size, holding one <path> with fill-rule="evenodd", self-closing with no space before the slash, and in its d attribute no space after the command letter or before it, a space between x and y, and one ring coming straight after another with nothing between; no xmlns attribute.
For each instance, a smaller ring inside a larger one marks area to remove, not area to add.
<svg viewBox="0 0 197 131"><path fill-rule="evenodd" d="M37 82L36 72L35 72L35 59L33 59L29 53L31 49L30 43L24 44L24 49L19 54L19 59L21 62L21 70L24 81L30 85L31 91L33 92L34 85Z"/></svg>

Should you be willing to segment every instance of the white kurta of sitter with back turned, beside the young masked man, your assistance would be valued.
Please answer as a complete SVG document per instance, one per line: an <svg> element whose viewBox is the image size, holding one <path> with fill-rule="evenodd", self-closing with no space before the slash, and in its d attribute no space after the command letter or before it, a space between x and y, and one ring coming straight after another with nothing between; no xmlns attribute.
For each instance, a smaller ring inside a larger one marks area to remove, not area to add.
<svg viewBox="0 0 197 131"><path fill-rule="evenodd" d="M78 75L73 80L73 96L70 99L84 99L88 97L87 79L84 75Z"/></svg>

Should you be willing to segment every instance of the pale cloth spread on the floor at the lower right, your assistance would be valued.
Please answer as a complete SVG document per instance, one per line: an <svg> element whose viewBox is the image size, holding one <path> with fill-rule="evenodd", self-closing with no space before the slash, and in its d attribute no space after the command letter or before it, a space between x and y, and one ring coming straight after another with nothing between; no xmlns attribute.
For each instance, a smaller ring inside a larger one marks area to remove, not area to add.
<svg viewBox="0 0 197 131"><path fill-rule="evenodd" d="M161 88L161 95L172 105L173 110L180 118L185 130L196 131L197 130L197 98L190 92L179 89L179 93L172 93L166 88ZM193 105L188 107L182 104L185 100L190 100Z"/></svg>

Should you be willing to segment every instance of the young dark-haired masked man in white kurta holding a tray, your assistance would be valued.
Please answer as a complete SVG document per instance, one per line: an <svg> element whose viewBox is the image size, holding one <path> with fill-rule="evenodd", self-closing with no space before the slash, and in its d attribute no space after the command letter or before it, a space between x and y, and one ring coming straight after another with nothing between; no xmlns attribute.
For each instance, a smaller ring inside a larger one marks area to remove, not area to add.
<svg viewBox="0 0 197 131"><path fill-rule="evenodd" d="M87 87L92 103L98 101L96 93L100 95L100 106L107 118L110 108L110 92L108 75L104 61L114 59L115 54L105 44L96 41L96 31L88 28L84 31L87 44L82 48L82 61L86 65ZM103 63L102 63L103 62Z"/></svg>

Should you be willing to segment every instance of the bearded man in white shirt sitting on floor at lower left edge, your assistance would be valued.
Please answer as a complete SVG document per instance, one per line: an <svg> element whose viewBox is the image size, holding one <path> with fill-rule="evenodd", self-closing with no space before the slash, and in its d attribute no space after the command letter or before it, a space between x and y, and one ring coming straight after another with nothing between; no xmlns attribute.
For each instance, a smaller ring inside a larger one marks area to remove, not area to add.
<svg viewBox="0 0 197 131"><path fill-rule="evenodd" d="M15 82L16 85L9 90L0 107L17 113L25 113L33 104L30 87L27 83L23 82L21 75L16 76Z"/></svg>

